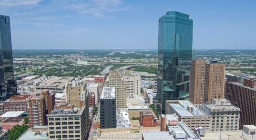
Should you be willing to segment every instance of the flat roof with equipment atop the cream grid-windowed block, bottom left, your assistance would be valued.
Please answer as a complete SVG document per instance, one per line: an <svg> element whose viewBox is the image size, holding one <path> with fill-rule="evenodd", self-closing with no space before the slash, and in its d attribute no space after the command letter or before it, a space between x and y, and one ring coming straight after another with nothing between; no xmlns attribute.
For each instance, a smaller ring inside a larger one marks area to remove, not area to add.
<svg viewBox="0 0 256 140"><path fill-rule="evenodd" d="M84 110L85 107L83 108L74 108L74 109L55 109L53 111L51 111L51 113L49 115L47 115L48 117L50 116L55 116L55 115L81 115L82 111Z"/></svg>

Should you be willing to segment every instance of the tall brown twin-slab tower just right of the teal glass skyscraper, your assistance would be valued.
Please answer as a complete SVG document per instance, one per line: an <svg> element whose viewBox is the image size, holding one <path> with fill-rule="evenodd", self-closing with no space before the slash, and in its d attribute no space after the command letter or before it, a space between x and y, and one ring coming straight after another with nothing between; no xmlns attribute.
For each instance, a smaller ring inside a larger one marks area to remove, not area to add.
<svg viewBox="0 0 256 140"><path fill-rule="evenodd" d="M190 65L189 100L195 104L224 98L225 65L194 59Z"/></svg>

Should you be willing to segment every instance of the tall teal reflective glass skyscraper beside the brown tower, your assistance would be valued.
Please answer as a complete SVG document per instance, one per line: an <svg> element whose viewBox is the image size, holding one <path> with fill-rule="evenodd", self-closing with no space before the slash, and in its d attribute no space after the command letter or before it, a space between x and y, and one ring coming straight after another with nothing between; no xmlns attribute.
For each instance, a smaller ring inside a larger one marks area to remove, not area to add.
<svg viewBox="0 0 256 140"><path fill-rule="evenodd" d="M165 113L166 100L188 93L192 59L193 20L189 15L168 11L159 19L157 94Z"/></svg>

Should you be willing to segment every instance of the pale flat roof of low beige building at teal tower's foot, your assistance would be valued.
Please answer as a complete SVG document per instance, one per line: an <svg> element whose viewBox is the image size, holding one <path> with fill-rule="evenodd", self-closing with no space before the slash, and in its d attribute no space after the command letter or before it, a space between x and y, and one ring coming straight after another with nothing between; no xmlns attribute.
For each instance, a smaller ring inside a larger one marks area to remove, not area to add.
<svg viewBox="0 0 256 140"><path fill-rule="evenodd" d="M206 114L199 110L193 103L189 102L188 100L179 100L179 101L166 101L170 102L169 104L173 107L173 109L180 115L180 116L205 116ZM193 107L194 112L189 112L187 110L187 106Z"/></svg>

